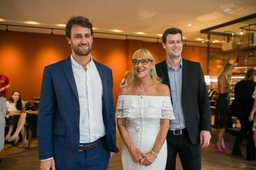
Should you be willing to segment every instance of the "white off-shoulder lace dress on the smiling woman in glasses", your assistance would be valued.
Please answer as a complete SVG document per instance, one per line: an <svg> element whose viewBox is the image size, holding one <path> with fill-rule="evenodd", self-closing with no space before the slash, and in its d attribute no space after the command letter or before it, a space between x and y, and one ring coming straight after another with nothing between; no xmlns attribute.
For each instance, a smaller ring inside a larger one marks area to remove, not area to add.
<svg viewBox="0 0 256 170"><path fill-rule="evenodd" d="M147 153L153 148L161 119L174 119L170 96L120 95L117 102L117 118L126 118L132 143L137 149ZM166 141L150 166L133 162L125 144L122 146L124 170L164 170L166 157Z"/></svg>

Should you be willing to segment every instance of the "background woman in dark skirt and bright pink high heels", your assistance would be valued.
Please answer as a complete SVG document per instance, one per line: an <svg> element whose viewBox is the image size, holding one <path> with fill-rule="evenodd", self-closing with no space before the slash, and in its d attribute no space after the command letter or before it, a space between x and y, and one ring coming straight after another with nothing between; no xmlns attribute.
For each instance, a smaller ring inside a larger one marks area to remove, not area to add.
<svg viewBox="0 0 256 170"><path fill-rule="evenodd" d="M228 126L228 120L230 117L229 114L229 96L230 92L230 76L233 70L232 64L226 64L223 68L223 71L218 77L218 89L219 89L219 98L216 103L216 112L214 119L214 127L218 128L218 140L214 147L218 150L219 153L224 154L225 145L223 140L224 132Z"/></svg>

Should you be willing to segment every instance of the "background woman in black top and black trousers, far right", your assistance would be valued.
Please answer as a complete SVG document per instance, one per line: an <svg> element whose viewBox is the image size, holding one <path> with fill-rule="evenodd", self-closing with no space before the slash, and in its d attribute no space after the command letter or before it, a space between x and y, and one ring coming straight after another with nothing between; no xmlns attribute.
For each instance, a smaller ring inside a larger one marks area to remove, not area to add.
<svg viewBox="0 0 256 170"><path fill-rule="evenodd" d="M254 99L252 98L252 94L255 88L255 79L256 71L254 69L250 69L247 71L245 78L240 82L236 83L235 86L235 99L232 104L233 111L236 112L238 118L241 123L241 130L238 133L235 144L232 150L232 154L235 156L242 156L241 154L241 143L243 141L243 137L248 133L248 142L247 142L247 159L254 160L255 159L255 148L253 142L253 132L252 132L252 124L248 120L248 116L253 107Z"/></svg>

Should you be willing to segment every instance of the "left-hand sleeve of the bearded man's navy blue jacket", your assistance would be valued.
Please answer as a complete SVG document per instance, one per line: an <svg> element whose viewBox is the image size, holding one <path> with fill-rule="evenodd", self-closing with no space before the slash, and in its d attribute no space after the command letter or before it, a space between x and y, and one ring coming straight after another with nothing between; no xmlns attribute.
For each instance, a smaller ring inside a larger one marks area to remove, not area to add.
<svg viewBox="0 0 256 170"><path fill-rule="evenodd" d="M52 127L55 113L55 91L49 67L45 67L38 110L38 152L39 159L53 157Z"/></svg>

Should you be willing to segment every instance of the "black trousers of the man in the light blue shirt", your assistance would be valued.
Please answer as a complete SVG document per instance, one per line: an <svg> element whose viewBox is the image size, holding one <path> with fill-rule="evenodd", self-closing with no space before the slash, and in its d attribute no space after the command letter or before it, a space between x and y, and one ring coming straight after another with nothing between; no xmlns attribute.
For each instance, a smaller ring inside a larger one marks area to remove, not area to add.
<svg viewBox="0 0 256 170"><path fill-rule="evenodd" d="M177 154L180 156L184 170L201 169L201 146L190 142L187 130L182 135L173 135L169 130L166 141L168 150L166 170L175 170Z"/></svg>

